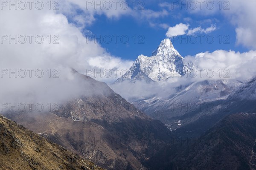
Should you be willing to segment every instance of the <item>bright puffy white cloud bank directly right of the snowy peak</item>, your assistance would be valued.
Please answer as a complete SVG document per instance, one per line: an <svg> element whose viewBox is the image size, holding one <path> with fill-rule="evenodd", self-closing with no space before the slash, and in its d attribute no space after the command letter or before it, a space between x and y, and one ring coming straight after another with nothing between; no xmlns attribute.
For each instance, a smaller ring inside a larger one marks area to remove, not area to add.
<svg viewBox="0 0 256 170"><path fill-rule="evenodd" d="M195 57L185 57L185 61L192 61L198 68L205 71L212 69L215 72L213 78L220 79L219 70L222 74L229 72L228 79L248 79L256 74L256 51L239 53L235 51L216 50L212 53L204 52L196 54ZM225 71L227 69L228 71ZM204 77L207 79L207 77ZM223 75L222 77L223 78ZM227 77L226 77L227 78ZM201 81L201 78L197 81Z"/></svg>

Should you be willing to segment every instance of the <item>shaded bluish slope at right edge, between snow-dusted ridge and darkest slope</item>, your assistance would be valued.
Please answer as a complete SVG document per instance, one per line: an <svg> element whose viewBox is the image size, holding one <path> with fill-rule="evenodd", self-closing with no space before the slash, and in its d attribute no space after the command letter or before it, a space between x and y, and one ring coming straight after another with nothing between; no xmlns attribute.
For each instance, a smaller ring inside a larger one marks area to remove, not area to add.
<svg viewBox="0 0 256 170"><path fill-rule="evenodd" d="M248 79L236 88L224 99L204 101L200 104L204 107L190 110L182 116L172 118L172 122L180 120L184 125L178 126L175 134L177 136L200 136L207 129L214 126L224 116L234 112L255 113L256 112L256 77ZM176 119L176 121L175 121Z"/></svg>

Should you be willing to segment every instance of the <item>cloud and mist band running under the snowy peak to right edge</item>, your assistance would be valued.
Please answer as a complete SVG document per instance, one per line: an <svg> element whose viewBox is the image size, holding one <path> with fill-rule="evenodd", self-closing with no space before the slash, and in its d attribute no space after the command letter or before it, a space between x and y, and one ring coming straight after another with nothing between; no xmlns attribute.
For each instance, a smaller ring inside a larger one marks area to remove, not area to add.
<svg viewBox="0 0 256 170"><path fill-rule="evenodd" d="M192 82L219 79L244 81L256 74L256 51L245 53L224 50L216 50L212 53L207 51L196 54L195 56L185 57L184 62L191 61L197 65L197 68L195 68L195 77L185 75L183 77L173 77L167 79L167 81L151 82L149 84L144 81L136 81L135 83L125 81L113 84L111 88L121 94L125 99L128 99L128 101L143 98L152 99L152 96L157 96L155 99L159 99L169 97L176 93L175 88L180 85L186 86ZM195 71L193 71L193 75ZM152 101L155 99L152 99Z"/></svg>

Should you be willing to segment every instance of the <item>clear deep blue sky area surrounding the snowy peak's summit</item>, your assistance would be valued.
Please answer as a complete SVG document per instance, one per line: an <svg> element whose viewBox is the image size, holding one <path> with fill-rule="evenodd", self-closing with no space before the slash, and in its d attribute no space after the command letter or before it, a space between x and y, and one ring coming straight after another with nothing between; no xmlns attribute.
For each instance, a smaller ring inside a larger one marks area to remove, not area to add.
<svg viewBox="0 0 256 170"><path fill-rule="evenodd" d="M134 1L128 2L129 7L134 8ZM103 14L96 14L93 23L83 28L83 34L85 36L93 35L101 39L102 42L99 40L97 42L103 48L106 48L111 55L130 60L135 60L140 54L151 56L151 52L157 48L161 40L166 38L166 32L168 30L166 27L173 27L179 23L189 25L189 29L197 27L205 29L212 25L215 26L215 30L207 34L196 33L193 35L195 37L185 34L172 38L175 48L183 57L205 51L212 52L219 49L240 52L245 52L250 49L244 47L244 45L236 44L236 26L229 21L230 18L224 16L222 13L222 11L224 11L224 5L227 6L228 4L222 4L220 7L219 4L215 3L215 7L212 10L204 6L202 10L199 10L200 4L195 1L198 5L196 9L199 11L194 12L195 10L192 10L192 7L188 5L188 9L186 9L185 6L175 4L177 1L171 3L171 1L150 0L143 1L144 4L141 2L142 1L136 2L137 8L143 5L144 9L133 9L133 12L145 13L147 10L151 10L152 12L165 10L168 14L148 19L136 18L131 15L121 15L118 18L113 18ZM224 2L225 1L223 1L223 3ZM186 3L186 1L184 1L184 3ZM172 7L168 7L167 5L163 6L161 4L169 4L169 6ZM229 6L230 5L227 7ZM206 14L208 11L212 12L213 10L215 10L213 14ZM80 12L82 11L78 13ZM72 17L70 17L70 22L73 22ZM167 26L163 28L163 26L160 26L161 24L166 24ZM88 30L91 32L88 33ZM114 36L116 35L119 37L116 37L115 42ZM201 37L198 37L198 35ZM111 37L111 39L109 39L109 37ZM123 37L123 41L121 37ZM126 37L128 37L129 40L127 40ZM213 41L212 37L214 38ZM200 42L200 38L202 42ZM134 40L136 40L136 42L134 42ZM207 42L207 40L209 40L209 42Z"/></svg>

